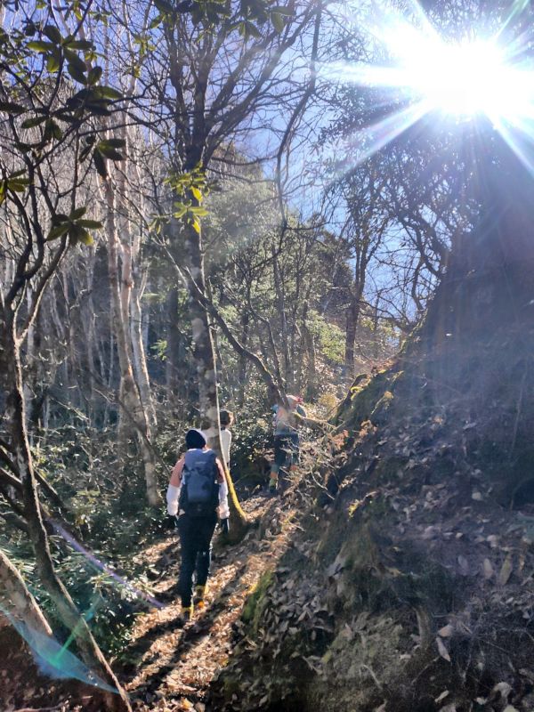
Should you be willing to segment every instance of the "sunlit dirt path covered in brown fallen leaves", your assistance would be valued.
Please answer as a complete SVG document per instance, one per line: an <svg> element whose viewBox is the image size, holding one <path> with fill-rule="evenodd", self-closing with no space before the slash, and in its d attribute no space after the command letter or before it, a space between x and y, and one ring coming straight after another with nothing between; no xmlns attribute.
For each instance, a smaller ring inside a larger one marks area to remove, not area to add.
<svg viewBox="0 0 534 712"><path fill-rule="evenodd" d="M216 547L206 611L184 628L177 625L180 553L176 538L171 536L143 553L152 568L165 570L154 590L170 603L140 617L125 651L127 663L121 677L136 710L203 712L206 708L210 681L224 667L231 650L232 624L262 574L285 551L293 529L283 500L250 498L244 508L251 517L261 517L262 526L248 532L238 546Z"/></svg>

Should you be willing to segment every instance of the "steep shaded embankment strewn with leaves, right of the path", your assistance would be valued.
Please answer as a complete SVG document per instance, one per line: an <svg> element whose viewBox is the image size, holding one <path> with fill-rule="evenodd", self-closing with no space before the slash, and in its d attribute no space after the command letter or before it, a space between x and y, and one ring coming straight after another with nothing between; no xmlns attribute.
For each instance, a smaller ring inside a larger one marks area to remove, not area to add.
<svg viewBox="0 0 534 712"><path fill-rule="evenodd" d="M247 604L214 709L534 709L534 247L520 218L481 225L400 358L357 381L333 499Z"/></svg>

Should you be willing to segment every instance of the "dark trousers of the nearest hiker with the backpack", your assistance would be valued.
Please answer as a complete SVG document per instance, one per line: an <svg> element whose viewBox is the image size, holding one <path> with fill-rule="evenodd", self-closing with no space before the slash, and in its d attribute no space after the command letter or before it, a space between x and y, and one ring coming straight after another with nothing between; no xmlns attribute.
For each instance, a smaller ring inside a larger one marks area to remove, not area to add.
<svg viewBox="0 0 534 712"><path fill-rule="evenodd" d="M217 516L190 517L182 514L178 519L178 532L182 546L182 566L178 587L182 606L189 608L193 595L193 574L197 572L197 586L206 586L211 565L212 538Z"/></svg>

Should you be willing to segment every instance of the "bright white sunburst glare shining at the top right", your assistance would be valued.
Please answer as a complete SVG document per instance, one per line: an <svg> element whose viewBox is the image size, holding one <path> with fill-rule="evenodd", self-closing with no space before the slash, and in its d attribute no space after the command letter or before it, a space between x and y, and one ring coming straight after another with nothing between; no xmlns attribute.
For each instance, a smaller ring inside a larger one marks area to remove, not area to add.
<svg viewBox="0 0 534 712"><path fill-rule="evenodd" d="M433 27L416 0L407 16L384 4L373 5L373 19L360 23L368 53L381 61L323 65L319 72L330 81L384 90L393 109L380 123L352 137L357 165L380 150L425 115L454 123L486 117L491 125L534 172L534 61L530 59L532 32L513 37L513 24L526 4L516 2L492 35L468 28L465 36L447 38ZM377 93L380 96L380 92ZM384 99L385 97L385 99ZM448 129L450 128L450 124Z"/></svg>

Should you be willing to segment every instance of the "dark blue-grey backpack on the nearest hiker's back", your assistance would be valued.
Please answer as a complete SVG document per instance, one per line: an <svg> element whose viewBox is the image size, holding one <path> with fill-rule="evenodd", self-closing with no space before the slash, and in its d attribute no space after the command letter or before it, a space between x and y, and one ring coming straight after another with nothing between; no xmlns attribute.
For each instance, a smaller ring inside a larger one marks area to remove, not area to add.
<svg viewBox="0 0 534 712"><path fill-rule="evenodd" d="M193 517L215 514L219 505L219 469L214 450L189 450L182 471L180 509Z"/></svg>

